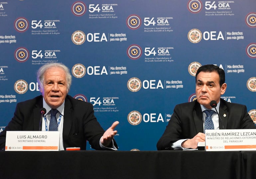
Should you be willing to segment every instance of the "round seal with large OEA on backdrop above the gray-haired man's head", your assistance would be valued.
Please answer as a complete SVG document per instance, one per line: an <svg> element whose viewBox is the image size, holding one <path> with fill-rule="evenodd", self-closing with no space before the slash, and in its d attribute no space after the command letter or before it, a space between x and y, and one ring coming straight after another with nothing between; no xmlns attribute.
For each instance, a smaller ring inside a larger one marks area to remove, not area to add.
<svg viewBox="0 0 256 179"><path fill-rule="evenodd" d="M105 33L88 33L87 35L82 31L75 31L72 36L71 40L75 45L81 45L85 41L87 42L108 42Z"/></svg>

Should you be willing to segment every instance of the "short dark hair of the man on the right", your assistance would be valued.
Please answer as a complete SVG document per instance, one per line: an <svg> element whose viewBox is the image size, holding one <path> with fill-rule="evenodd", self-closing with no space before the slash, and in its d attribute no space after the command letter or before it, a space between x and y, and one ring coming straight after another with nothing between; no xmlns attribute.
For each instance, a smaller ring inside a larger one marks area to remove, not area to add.
<svg viewBox="0 0 256 179"><path fill-rule="evenodd" d="M198 68L196 74L195 74L195 83L196 83L196 77L200 72L214 72L216 71L219 74L219 85L222 86L223 83L225 83L225 72L223 69L219 68L216 65L203 65Z"/></svg>

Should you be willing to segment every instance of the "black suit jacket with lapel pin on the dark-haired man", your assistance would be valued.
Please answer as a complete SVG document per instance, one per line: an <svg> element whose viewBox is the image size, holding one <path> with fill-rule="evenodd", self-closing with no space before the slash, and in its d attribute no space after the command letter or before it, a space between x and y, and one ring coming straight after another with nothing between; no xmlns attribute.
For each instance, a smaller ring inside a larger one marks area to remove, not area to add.
<svg viewBox="0 0 256 179"><path fill-rule="evenodd" d="M244 105L228 103L220 99L219 115L224 129L256 129ZM220 120L219 128L222 129ZM157 149L171 150L173 142L179 139L193 138L199 132L203 133L200 104L196 100L191 103L179 104L175 106L166 130L157 142Z"/></svg>

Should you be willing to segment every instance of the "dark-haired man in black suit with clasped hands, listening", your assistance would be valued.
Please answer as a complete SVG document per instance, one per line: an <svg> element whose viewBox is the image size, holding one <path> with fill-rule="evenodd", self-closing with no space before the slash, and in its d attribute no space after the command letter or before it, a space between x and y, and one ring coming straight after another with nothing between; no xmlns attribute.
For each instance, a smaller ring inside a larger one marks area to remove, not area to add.
<svg viewBox="0 0 256 179"><path fill-rule="evenodd" d="M203 65L197 70L195 81L196 100L175 106L166 130L157 142L158 150L197 148L198 142L205 141L204 111L207 109L214 111L211 116L214 129L256 129L246 106L220 99L227 88L223 69ZM215 109L210 106L212 100L217 102L223 127Z"/></svg>

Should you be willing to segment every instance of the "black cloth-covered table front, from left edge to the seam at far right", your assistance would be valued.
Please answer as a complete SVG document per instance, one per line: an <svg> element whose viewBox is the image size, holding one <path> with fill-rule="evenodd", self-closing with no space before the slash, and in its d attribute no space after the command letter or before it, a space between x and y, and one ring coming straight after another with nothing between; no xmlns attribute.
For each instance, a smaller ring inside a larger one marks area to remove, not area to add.
<svg viewBox="0 0 256 179"><path fill-rule="evenodd" d="M243 173L239 151L1 151L0 159L1 178L240 179Z"/></svg>

